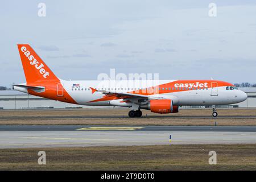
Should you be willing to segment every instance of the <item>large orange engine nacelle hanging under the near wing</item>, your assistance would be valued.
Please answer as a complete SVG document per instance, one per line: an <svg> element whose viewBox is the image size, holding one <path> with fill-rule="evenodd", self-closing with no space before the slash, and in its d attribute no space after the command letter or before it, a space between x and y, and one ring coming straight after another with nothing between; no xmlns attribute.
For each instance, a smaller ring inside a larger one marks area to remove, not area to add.
<svg viewBox="0 0 256 182"><path fill-rule="evenodd" d="M142 109L151 110L153 113L167 114L178 113L179 106L174 106L170 99L150 100L147 105L142 105Z"/></svg>

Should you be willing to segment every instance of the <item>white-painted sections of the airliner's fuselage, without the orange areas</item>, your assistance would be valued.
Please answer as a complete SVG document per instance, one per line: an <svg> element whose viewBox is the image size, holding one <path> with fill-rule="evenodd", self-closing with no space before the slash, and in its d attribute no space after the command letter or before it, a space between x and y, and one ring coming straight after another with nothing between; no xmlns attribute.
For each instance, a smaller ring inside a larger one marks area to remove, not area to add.
<svg viewBox="0 0 256 182"><path fill-rule="evenodd" d="M130 106L129 103L120 103L118 100L95 101L102 97L104 94L95 92L92 94L92 89L106 90L109 92L127 93L141 88L149 88L156 85L167 84L176 80L158 80L158 81L64 81L61 84L70 96L80 105L91 106ZM79 86L74 86L79 85ZM160 87L160 86L159 86ZM161 88L160 88L161 89ZM238 89L226 90L226 86L218 86L217 88L204 88L204 89L187 89L178 88L179 92L175 91L176 88L164 88L170 90L169 93L155 93L150 94L151 97L163 97L172 99L174 105L227 105L242 102L247 98L247 95ZM180 89L180 90L179 90ZM95 101L95 102L92 102Z"/></svg>

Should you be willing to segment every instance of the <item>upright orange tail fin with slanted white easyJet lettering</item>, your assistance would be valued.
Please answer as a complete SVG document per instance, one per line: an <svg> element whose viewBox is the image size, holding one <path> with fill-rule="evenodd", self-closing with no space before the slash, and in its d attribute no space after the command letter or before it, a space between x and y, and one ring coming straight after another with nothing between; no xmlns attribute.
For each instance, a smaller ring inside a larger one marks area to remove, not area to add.
<svg viewBox="0 0 256 182"><path fill-rule="evenodd" d="M28 44L18 44L19 55L22 61L27 82L57 81L54 73Z"/></svg>

